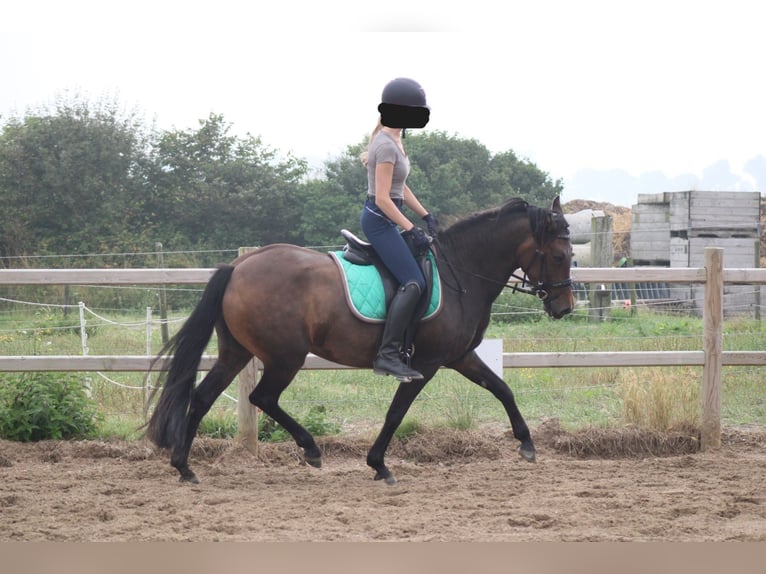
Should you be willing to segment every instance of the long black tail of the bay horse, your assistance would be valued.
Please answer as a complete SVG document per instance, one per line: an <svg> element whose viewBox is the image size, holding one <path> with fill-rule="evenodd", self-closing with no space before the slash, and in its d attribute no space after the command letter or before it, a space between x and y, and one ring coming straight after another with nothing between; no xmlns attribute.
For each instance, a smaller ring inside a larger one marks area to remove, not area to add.
<svg viewBox="0 0 766 574"><path fill-rule="evenodd" d="M165 344L153 361L173 355L167 372L159 377L162 393L147 423L147 436L161 448L184 444L197 369L215 324L221 317L223 294L233 271L233 265L218 268L183 327ZM156 391L152 393L147 408Z"/></svg>

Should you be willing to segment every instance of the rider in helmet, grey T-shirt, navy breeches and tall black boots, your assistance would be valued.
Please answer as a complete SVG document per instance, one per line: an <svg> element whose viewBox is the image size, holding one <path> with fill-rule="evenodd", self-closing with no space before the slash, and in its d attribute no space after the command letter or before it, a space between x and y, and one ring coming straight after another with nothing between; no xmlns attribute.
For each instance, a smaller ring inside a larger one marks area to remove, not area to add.
<svg viewBox="0 0 766 574"><path fill-rule="evenodd" d="M423 378L402 361L400 349L426 281L405 237L417 251L427 250L431 238L404 215L402 208L407 206L420 216L431 236L436 235L437 222L407 186L410 162L402 139L406 128L422 128L428 123L430 108L419 83L396 78L383 88L378 111L378 124L362 157L367 166L368 189L360 221L375 252L399 281L399 288L387 311L373 371L406 382Z"/></svg>

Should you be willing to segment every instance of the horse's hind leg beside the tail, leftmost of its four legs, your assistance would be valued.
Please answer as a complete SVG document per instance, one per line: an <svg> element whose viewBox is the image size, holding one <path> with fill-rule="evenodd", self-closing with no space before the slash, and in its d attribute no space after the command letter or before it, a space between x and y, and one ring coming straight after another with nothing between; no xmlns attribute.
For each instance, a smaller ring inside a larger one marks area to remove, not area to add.
<svg viewBox="0 0 766 574"><path fill-rule="evenodd" d="M202 417L207 414L215 400L228 387L249 361L249 358L241 358L234 365L222 363L220 359L213 365L213 368L202 379L202 382L194 389L189 412L187 414L186 434L183 444L177 444L173 447L173 454L170 458L170 464L181 473L182 482L199 483L197 475L189 468L189 451L192 442L197 434Z"/></svg>

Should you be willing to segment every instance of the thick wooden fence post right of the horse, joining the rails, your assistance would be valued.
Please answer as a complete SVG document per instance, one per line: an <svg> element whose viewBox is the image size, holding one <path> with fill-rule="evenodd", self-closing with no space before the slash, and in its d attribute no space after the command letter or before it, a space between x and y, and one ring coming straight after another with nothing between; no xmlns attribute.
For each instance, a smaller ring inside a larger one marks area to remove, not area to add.
<svg viewBox="0 0 766 574"><path fill-rule="evenodd" d="M705 304L702 311L705 364L702 367L702 450L721 446L723 363L723 249L705 247Z"/></svg>

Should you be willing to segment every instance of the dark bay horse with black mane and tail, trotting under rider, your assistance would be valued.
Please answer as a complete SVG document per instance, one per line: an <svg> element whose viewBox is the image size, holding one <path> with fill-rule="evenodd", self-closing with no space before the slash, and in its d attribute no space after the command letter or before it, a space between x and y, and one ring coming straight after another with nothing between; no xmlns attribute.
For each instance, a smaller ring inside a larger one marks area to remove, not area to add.
<svg viewBox="0 0 766 574"><path fill-rule="evenodd" d="M442 306L422 321L411 365L423 379L400 382L383 426L367 454L374 479L396 484L385 453L399 424L423 387L441 367L453 369L492 393L510 419L522 458L534 462L535 446L510 387L479 358L476 347L489 325L493 301L509 286L536 295L544 311L559 319L572 311L569 226L559 198L550 209L512 198L446 226L433 252L441 278ZM523 271L523 277L518 271ZM329 253L274 243L219 265L180 330L154 361L165 359L159 399L146 424L158 447L171 449L170 463L180 480L198 483L189 451L202 417L253 358L262 375L249 396L292 435L304 461L321 467L314 437L285 412L279 398L308 353L358 368L372 368L383 326L361 320L346 300L342 277ZM195 384L202 354L213 332L218 356Z"/></svg>

